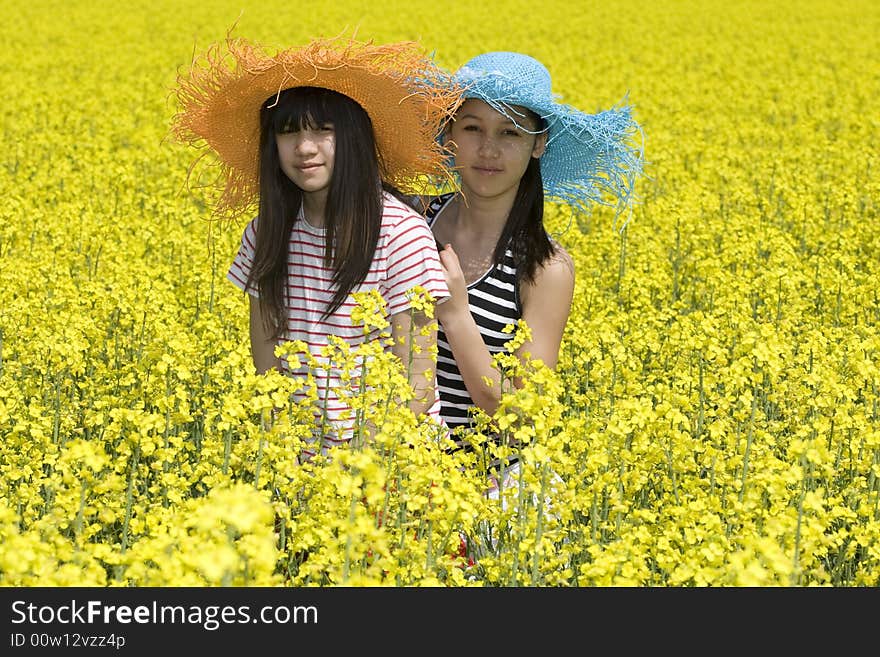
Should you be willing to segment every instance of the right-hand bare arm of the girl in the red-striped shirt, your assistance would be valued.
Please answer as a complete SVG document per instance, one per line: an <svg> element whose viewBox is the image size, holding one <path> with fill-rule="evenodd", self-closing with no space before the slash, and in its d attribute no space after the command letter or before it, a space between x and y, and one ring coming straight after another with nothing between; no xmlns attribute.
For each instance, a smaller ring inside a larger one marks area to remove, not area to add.
<svg viewBox="0 0 880 657"><path fill-rule="evenodd" d="M415 396L409 403L416 415L427 413L434 404L437 323L423 312L410 310L391 316L391 351L403 362Z"/></svg>

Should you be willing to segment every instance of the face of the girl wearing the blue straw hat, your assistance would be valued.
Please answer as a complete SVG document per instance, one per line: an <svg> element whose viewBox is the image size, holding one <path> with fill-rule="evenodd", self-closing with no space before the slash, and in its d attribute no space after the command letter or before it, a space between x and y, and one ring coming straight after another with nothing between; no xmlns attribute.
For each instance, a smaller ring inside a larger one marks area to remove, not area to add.
<svg viewBox="0 0 880 657"><path fill-rule="evenodd" d="M537 130L537 122L527 110L514 106L524 116L517 122ZM541 157L547 144L546 133L529 134L482 100L468 98L456 112L447 139L453 142L455 167L461 174L465 192L478 196L500 196L519 186L532 157Z"/></svg>

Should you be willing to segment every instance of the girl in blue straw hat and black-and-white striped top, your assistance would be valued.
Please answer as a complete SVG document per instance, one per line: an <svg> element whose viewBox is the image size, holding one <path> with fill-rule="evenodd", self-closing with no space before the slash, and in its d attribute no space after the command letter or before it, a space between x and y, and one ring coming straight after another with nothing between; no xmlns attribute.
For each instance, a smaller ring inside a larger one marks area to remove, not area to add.
<svg viewBox="0 0 880 657"><path fill-rule="evenodd" d="M459 188L429 199L425 211L451 294L436 313L441 414L452 429L471 426L475 406L497 408L492 356L511 338L506 325L522 319L531 331L521 358L557 364L575 271L544 228L545 200L573 212L611 204L619 213L642 165L629 107L588 114L558 102L549 72L528 55L479 55L454 81L463 102L443 140Z"/></svg>

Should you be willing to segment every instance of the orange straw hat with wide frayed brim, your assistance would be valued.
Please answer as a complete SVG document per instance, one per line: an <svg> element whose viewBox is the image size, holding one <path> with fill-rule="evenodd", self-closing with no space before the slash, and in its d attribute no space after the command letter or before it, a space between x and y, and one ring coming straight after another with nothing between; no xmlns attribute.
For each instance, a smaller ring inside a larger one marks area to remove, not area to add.
<svg viewBox="0 0 880 657"><path fill-rule="evenodd" d="M448 152L437 135L460 103L451 76L414 42L374 45L336 37L268 55L228 38L179 75L172 134L219 166L215 214L234 218L259 198L260 107L291 87L322 87L348 96L370 117L380 172L405 192L448 180ZM192 174L193 167L190 168Z"/></svg>

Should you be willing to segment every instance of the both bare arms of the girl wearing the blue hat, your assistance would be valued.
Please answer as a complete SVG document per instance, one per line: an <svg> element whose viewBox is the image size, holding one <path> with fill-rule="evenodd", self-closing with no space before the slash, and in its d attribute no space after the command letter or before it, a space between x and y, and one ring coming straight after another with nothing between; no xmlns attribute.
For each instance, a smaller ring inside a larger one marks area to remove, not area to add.
<svg viewBox="0 0 880 657"><path fill-rule="evenodd" d="M468 308L464 274L452 246L447 245L440 252L440 260L452 296L437 306L437 317L443 325L443 332L471 399L479 408L493 413L504 392L501 389L501 375L493 367L492 355ZM531 330L532 339L523 344L516 354L522 359L529 354L531 359L540 359L548 367L555 368L574 294L574 263L571 257L557 247L553 258L538 269L535 280L521 288L523 320ZM514 381L514 384L521 386L522 382Z"/></svg>

